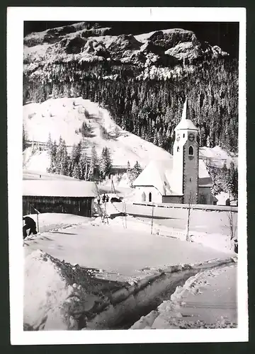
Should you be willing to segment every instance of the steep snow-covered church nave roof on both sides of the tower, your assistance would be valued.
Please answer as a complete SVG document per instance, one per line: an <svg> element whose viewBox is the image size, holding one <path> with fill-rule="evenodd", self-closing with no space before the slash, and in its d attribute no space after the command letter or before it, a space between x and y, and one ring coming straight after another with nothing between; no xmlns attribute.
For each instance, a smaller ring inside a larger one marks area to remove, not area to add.
<svg viewBox="0 0 255 354"><path fill-rule="evenodd" d="M145 169L132 183L134 186L153 186L159 190L162 195L180 195L171 188L174 178L173 159L150 161ZM198 168L198 186L212 187L212 179L206 169L205 162L199 160Z"/></svg>

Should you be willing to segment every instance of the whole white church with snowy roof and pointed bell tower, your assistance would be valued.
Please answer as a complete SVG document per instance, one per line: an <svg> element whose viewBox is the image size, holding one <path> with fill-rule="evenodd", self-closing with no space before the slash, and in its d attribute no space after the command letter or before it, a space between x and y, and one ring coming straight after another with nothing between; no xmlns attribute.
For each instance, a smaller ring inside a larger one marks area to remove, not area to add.
<svg viewBox="0 0 255 354"><path fill-rule="evenodd" d="M188 116L187 100L175 128L173 156L150 161L132 183L140 202L216 204L212 179L199 159L198 128Z"/></svg>

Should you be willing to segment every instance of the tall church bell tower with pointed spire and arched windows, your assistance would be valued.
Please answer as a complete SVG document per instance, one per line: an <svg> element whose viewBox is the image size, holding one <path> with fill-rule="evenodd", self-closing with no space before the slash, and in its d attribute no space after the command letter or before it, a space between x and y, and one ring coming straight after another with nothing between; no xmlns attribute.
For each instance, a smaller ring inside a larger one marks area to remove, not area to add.
<svg viewBox="0 0 255 354"><path fill-rule="evenodd" d="M198 128L189 119L187 99L181 121L175 128L174 189L183 195L183 203L198 203Z"/></svg>

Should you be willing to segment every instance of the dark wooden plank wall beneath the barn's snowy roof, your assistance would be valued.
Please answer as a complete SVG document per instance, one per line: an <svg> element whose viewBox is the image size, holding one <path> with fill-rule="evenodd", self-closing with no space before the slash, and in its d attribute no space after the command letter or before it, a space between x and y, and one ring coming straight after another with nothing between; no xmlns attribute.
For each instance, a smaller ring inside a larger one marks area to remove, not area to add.
<svg viewBox="0 0 255 354"><path fill-rule="evenodd" d="M63 212L92 217L94 198L23 196L23 215L39 212Z"/></svg>

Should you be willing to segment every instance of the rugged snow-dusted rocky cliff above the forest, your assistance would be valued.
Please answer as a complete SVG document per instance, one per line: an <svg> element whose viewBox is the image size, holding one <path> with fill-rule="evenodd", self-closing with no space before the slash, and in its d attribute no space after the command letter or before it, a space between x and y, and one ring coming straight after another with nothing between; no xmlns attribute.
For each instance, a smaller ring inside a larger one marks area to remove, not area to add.
<svg viewBox="0 0 255 354"><path fill-rule="evenodd" d="M76 23L31 33L24 38L24 71L35 72L47 62L108 62L144 67L145 62L174 67L188 59L225 57L219 47L200 42L190 30L159 30L141 35L109 35L111 28L86 28Z"/></svg>

